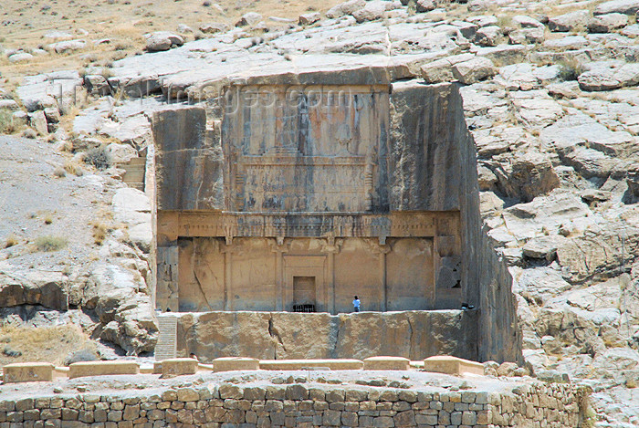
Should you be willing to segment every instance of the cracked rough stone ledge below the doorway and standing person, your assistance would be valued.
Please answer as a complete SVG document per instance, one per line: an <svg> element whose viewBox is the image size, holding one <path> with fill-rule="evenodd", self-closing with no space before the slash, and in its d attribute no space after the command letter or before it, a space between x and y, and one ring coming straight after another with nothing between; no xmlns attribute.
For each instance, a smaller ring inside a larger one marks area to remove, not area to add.
<svg viewBox="0 0 639 428"><path fill-rule="evenodd" d="M415 360L442 353L470 357L475 322L474 312L460 310L340 316L209 312L182 315L177 339L180 352L194 352L206 362L234 355L260 360L379 355Z"/></svg>

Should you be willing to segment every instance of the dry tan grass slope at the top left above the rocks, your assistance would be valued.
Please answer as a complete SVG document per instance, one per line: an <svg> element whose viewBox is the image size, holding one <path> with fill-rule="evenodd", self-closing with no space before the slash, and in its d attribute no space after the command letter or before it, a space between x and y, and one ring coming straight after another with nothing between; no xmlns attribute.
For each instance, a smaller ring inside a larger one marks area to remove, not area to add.
<svg viewBox="0 0 639 428"><path fill-rule="evenodd" d="M3 0L2 10L10 17L3 27L3 47L25 48L47 47L57 40L44 38L52 30L68 32L73 38L86 40L87 47L70 54L43 55L34 57L24 64L11 64L6 57L0 57L3 78L19 81L23 76L56 69L79 69L86 67L87 56L92 62L107 64L120 57L132 56L145 46L144 34L152 31L176 31L178 24L186 24L193 29L208 22L234 25L246 12L257 12L264 16L268 26L286 26L268 19L281 16L297 20L300 14L308 12L309 3L299 0L216 0L222 10L204 6L202 0L181 0L164 2L96 2L87 4L72 0ZM341 0L329 0L317 6L326 12ZM42 6L50 8L42 10ZM83 35L80 29L87 30ZM189 39L193 36L185 35ZM108 43L93 45L92 40L109 39ZM0 79L1 80L1 79ZM0 81L2 83L2 81Z"/></svg>

